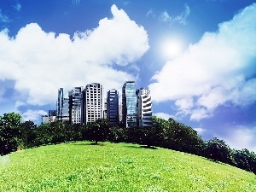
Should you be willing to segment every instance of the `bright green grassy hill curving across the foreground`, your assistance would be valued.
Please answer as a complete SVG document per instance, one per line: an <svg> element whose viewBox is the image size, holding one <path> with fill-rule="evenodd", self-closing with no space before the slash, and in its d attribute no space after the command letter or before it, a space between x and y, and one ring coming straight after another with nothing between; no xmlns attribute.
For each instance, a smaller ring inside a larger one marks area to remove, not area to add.
<svg viewBox="0 0 256 192"><path fill-rule="evenodd" d="M256 175L165 148L62 143L0 157L0 191L256 191Z"/></svg>

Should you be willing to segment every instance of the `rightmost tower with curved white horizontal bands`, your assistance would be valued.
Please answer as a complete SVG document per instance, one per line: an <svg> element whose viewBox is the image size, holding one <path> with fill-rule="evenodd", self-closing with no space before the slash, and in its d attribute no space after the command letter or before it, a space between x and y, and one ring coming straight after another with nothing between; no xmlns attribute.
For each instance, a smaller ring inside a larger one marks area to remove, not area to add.
<svg viewBox="0 0 256 192"><path fill-rule="evenodd" d="M152 102L150 91L141 88L136 91L137 95L137 125L151 126L152 124Z"/></svg>

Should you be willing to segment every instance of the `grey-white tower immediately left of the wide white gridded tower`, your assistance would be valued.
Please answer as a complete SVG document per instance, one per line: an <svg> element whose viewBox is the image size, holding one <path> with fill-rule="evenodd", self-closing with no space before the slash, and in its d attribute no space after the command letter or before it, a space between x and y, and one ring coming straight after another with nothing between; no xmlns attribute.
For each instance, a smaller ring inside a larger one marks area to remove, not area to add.
<svg viewBox="0 0 256 192"><path fill-rule="evenodd" d="M69 92L69 123L83 124L83 87L74 87Z"/></svg>

